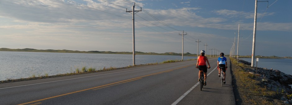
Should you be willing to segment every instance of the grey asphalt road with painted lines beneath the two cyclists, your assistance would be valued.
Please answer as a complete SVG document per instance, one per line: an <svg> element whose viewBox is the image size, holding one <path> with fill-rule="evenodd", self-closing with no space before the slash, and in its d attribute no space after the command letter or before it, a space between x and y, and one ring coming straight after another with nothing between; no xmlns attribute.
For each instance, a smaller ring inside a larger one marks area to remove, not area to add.
<svg viewBox="0 0 292 105"><path fill-rule="evenodd" d="M234 105L230 69L221 86L217 59L209 62L211 69L202 91L196 61L184 61L4 83L0 84L0 105Z"/></svg>

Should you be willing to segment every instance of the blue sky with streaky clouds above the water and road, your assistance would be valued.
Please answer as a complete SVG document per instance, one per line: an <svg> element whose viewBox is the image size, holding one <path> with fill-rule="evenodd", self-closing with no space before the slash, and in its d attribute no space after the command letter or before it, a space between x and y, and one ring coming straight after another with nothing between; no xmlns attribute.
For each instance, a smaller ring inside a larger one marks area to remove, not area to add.
<svg viewBox="0 0 292 105"><path fill-rule="evenodd" d="M134 2L135 51L252 54L255 0L1 0L0 48L132 52ZM291 4L258 2L255 55L292 57Z"/></svg>

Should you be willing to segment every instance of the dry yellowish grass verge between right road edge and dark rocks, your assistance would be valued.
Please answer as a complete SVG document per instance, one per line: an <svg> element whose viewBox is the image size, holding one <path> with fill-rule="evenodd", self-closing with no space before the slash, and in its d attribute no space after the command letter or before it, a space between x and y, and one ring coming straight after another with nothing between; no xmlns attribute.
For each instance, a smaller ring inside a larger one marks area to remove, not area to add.
<svg viewBox="0 0 292 105"><path fill-rule="evenodd" d="M258 75L244 71L248 65L237 62L230 57L232 84L234 86L237 105L283 105L280 100L283 90L272 91L263 85L262 81L255 80ZM259 77L258 77L259 78Z"/></svg>

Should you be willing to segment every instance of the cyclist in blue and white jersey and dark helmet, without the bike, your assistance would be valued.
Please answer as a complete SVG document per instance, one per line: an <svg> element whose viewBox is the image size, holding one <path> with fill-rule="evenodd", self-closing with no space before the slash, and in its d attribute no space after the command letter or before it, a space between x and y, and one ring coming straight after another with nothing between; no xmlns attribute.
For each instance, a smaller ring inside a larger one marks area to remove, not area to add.
<svg viewBox="0 0 292 105"><path fill-rule="evenodd" d="M218 58L218 62L217 62L217 67L219 68L218 71L219 71L219 77L220 77L220 72L221 72L221 68L220 67L223 67L222 68L222 71L223 71L223 84L225 84L225 78L226 78L226 69L227 69L227 59L226 57L224 57L224 53L220 53L220 57Z"/></svg>

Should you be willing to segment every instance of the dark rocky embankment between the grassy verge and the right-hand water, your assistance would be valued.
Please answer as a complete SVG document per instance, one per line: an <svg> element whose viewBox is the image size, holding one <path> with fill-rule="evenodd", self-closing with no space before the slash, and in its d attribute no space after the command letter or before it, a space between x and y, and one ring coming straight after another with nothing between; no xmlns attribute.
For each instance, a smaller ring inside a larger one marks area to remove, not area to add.
<svg viewBox="0 0 292 105"><path fill-rule="evenodd" d="M239 60L239 62L251 65L250 62L244 60ZM262 81L262 85L266 86L268 89L283 94L281 100L286 104L292 104L292 97L290 95L292 94L290 86L290 84L292 84L292 75L285 74L279 70L260 67L258 67L258 69L256 69L256 67L249 67L244 68L244 70L251 74L258 75L259 78L257 78L257 80Z"/></svg>

